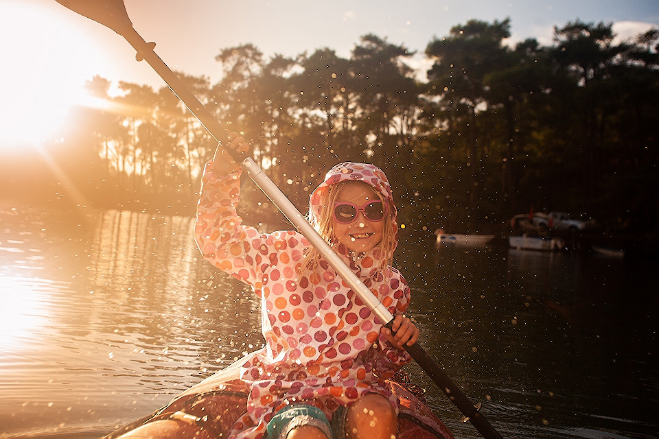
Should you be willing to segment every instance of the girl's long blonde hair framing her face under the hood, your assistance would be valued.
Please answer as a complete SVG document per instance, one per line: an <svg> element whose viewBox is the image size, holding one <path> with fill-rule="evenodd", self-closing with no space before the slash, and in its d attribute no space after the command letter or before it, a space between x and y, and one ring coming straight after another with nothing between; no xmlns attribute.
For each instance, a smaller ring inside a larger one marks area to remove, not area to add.
<svg viewBox="0 0 659 439"><path fill-rule="evenodd" d="M338 182L334 185L329 185L325 190L321 191L319 195L319 207L316 211L314 206L310 206L307 219L309 224L318 232L327 244L332 245L338 242L336 235L334 235L334 202L338 198L338 195L345 188L345 183L347 182L356 182L356 180L347 180L343 182ZM388 200L383 200L382 194L378 193L371 185L366 182L361 182L363 185L367 185L369 189L373 191L378 198L382 200L386 206L386 217L384 218L384 229L382 230L382 241L377 245L380 251L382 252L382 264L378 267L376 272L382 272L389 264L391 263L391 257L393 256L393 250L396 248L396 228L393 226L392 222L392 213L393 206L389 203ZM300 274L303 274L305 271L309 270L314 272L323 259L321 253L316 250L313 246L309 246L304 250L304 260L301 264Z"/></svg>

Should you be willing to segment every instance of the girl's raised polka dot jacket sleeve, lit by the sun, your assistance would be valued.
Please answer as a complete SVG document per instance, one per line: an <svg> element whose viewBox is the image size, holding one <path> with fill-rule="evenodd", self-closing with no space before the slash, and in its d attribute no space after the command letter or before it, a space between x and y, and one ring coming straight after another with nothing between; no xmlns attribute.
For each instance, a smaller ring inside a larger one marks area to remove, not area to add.
<svg viewBox="0 0 659 439"><path fill-rule="evenodd" d="M251 285L260 295L262 274L273 239L243 226L236 211L240 200L240 174L218 176L209 161L204 170L197 204L194 237L203 257L220 270Z"/></svg>

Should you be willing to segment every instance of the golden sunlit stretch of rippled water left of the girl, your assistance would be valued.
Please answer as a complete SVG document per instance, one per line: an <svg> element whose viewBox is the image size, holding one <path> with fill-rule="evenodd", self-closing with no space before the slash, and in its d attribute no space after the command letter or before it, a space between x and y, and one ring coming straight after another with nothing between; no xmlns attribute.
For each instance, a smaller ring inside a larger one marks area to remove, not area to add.
<svg viewBox="0 0 659 439"><path fill-rule="evenodd" d="M190 218L0 220L0 436L106 432L260 344L257 303L197 260Z"/></svg>

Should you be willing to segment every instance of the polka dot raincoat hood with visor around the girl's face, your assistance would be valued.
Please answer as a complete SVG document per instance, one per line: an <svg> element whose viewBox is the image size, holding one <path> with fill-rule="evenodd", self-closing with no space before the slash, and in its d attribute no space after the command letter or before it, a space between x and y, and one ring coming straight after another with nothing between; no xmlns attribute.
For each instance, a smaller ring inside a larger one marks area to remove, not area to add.
<svg viewBox="0 0 659 439"><path fill-rule="evenodd" d="M336 183L338 182L348 181L348 180L361 181L367 183L367 185L373 187L373 189L375 189L376 192L380 193L380 195L382 195L382 199L384 200L384 202L386 202L389 209L389 216L391 218L392 230L394 231L395 242L389 248L389 252L388 252L389 254L379 254L381 253L378 250L380 246L377 246L373 250L367 252L374 254L367 254L365 256L371 256L373 257L373 259L380 261L391 260L391 257L393 256L393 250L395 250L395 247L397 246L398 243L398 223L396 219L397 209L395 202L393 200L393 195L391 194L391 186L389 186L389 180L386 179L384 172L379 167L375 165L371 165L369 163L354 163L354 162L344 162L335 165L334 167L332 167L332 169L329 169L329 171L325 175L325 180L319 185L319 187L316 187L316 189L311 194L309 200L310 211L313 211L316 217L319 217L319 212L322 207L321 194L323 194L324 191L327 191L327 189L330 186L336 185ZM346 253L347 249L339 248L338 250L340 253Z"/></svg>

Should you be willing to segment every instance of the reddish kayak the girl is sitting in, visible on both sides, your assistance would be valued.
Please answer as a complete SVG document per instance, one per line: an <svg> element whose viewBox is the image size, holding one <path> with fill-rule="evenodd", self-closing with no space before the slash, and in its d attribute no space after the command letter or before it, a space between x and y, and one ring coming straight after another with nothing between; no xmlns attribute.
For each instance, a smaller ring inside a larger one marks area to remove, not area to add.
<svg viewBox="0 0 659 439"><path fill-rule="evenodd" d="M226 438L235 420L246 415L248 387L238 378L238 363L193 385L156 412L102 439ZM428 407L424 390L410 383L404 372L386 383L400 407L397 439L454 439L448 427ZM169 431L172 426L176 427L175 436Z"/></svg>

